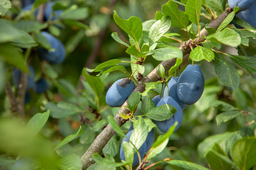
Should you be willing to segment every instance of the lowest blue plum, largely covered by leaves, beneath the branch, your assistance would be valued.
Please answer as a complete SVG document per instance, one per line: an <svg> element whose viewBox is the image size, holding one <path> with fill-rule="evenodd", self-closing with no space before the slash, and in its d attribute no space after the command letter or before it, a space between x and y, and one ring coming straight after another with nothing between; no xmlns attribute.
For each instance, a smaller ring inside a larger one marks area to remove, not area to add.
<svg viewBox="0 0 256 170"><path fill-rule="evenodd" d="M126 134L126 137L130 139L131 137L131 133L133 132L133 130L129 131ZM126 160L125 159L125 151L123 151L123 142L129 142L128 139L123 138L122 144L121 144L121 148L120 148L120 159L121 160ZM141 159L144 157L145 152L146 152L146 142L143 143L143 145L141 146L141 148L139 148L139 155L141 156ZM135 152L134 157L133 157L133 166L136 166L139 164L139 156L137 154L137 152Z"/></svg>

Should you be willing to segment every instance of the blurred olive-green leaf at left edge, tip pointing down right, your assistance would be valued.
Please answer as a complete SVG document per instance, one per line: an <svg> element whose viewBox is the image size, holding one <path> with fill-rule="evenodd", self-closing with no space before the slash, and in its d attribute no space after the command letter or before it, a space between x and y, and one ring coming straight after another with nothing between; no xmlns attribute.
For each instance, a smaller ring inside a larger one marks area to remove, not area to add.
<svg viewBox="0 0 256 170"><path fill-rule="evenodd" d="M1 49L0 50L0 58L3 59L3 61L28 73L28 68L24 61L22 53L20 53L19 48L16 48L15 46L13 46L11 44L0 44L0 49Z"/></svg>

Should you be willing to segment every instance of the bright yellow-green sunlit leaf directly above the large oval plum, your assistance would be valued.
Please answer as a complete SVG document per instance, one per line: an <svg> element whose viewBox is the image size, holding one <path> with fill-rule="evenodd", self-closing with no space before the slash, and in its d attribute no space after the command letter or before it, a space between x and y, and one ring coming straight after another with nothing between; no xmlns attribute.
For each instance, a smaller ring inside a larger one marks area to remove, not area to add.
<svg viewBox="0 0 256 170"><path fill-rule="evenodd" d="M203 46L197 46L192 50L189 56L193 61L201 61L203 59L208 62L214 59L214 53L212 50L205 48Z"/></svg>

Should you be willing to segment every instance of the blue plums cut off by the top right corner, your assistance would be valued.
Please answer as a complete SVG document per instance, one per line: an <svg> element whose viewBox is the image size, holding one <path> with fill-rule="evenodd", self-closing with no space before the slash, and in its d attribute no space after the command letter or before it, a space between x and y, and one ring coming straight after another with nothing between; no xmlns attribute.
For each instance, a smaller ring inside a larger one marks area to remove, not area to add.
<svg viewBox="0 0 256 170"><path fill-rule="evenodd" d="M256 26L254 16L256 14L256 1L255 0L228 0L231 8L239 7L239 13L236 15L238 18L245 20L253 27ZM236 23L235 23L236 24ZM236 27L241 28L236 24Z"/></svg>

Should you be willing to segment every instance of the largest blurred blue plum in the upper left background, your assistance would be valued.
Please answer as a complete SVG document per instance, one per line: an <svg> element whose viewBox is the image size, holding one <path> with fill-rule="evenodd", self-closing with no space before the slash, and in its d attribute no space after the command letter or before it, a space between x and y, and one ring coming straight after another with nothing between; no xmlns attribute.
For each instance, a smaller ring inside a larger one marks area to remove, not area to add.
<svg viewBox="0 0 256 170"><path fill-rule="evenodd" d="M42 35L46 37L47 41L49 41L52 48L55 49L55 52L51 52L44 48L39 48L38 49L39 57L41 59L45 59L46 61L54 65L63 62L66 56L66 51L62 42L48 32L42 31Z"/></svg>

